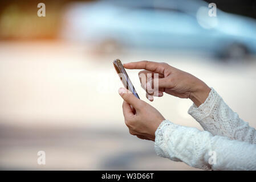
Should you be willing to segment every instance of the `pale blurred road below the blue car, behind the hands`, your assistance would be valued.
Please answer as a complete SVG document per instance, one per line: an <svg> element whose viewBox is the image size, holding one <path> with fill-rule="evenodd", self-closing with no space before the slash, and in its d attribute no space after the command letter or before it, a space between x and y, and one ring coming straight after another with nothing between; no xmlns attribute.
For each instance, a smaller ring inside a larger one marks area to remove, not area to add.
<svg viewBox="0 0 256 182"><path fill-rule="evenodd" d="M153 142L129 135L112 61L167 62L204 80L256 127L256 59L221 63L205 55L127 50L94 56L65 42L0 43L0 169L193 170L156 156ZM127 71L141 99L139 71ZM149 103L149 102L148 102ZM172 96L151 103L180 125L201 126L192 102ZM37 164L39 150L46 165Z"/></svg>

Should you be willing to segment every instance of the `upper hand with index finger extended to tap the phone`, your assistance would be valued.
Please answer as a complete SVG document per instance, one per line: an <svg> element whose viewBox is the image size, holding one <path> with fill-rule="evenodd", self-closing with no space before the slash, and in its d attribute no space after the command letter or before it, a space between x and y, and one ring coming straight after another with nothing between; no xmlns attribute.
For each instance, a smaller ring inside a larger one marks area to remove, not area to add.
<svg viewBox="0 0 256 182"><path fill-rule="evenodd" d="M153 96L161 97L165 92L180 98L190 98L194 104L200 106L211 90L197 77L166 63L139 61L124 64L124 68L145 69L139 72L139 77L141 86L146 90L146 96L150 101L153 101ZM154 73L158 73L158 76ZM153 85L157 81L158 87Z"/></svg>

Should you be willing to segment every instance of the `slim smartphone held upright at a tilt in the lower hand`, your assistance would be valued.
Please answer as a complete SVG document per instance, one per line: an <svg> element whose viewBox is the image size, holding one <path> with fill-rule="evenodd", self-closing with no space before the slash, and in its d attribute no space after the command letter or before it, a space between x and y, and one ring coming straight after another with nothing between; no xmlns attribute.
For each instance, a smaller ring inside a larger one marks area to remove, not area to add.
<svg viewBox="0 0 256 182"><path fill-rule="evenodd" d="M132 92L133 95L135 95L135 97L140 98L138 96L134 86L132 85L132 82L131 82L130 78L128 77L127 72L125 71L121 61L119 59L115 59L113 61L113 65L116 69L117 74L119 75L121 82L123 82L124 87L127 90L129 90L130 92Z"/></svg>

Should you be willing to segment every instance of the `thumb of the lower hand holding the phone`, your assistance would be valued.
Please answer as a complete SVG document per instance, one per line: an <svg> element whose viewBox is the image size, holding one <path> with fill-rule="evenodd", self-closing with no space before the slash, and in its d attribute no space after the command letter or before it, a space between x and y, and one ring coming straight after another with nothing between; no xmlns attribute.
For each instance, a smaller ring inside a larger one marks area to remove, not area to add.
<svg viewBox="0 0 256 182"><path fill-rule="evenodd" d="M118 92L124 101L128 102L128 104L131 104L135 108L139 108L141 100L135 97L129 90L125 88L120 88Z"/></svg>

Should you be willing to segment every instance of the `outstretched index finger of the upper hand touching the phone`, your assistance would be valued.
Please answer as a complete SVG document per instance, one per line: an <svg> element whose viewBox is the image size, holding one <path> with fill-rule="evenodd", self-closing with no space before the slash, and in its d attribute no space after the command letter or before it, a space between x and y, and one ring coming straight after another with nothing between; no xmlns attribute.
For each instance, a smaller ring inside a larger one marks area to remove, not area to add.
<svg viewBox="0 0 256 182"><path fill-rule="evenodd" d="M127 69L146 69L151 72L164 74L164 70L168 64L157 63L153 61L138 61L125 63L124 68Z"/></svg>

